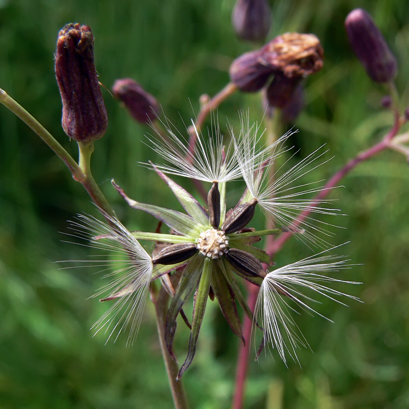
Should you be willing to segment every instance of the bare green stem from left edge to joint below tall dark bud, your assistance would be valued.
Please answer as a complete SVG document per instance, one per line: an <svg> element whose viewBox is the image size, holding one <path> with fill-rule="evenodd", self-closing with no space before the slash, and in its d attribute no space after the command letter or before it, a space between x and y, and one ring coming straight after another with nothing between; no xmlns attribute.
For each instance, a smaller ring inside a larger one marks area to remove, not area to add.
<svg viewBox="0 0 409 409"><path fill-rule="evenodd" d="M57 140L37 121L29 112L27 112L19 103L14 101L7 92L0 88L0 102L13 114L18 116L27 124L43 141L56 153L56 155L67 165L72 173L72 177L77 182L82 182L85 178L81 168L72 158L72 156L57 142Z"/></svg>

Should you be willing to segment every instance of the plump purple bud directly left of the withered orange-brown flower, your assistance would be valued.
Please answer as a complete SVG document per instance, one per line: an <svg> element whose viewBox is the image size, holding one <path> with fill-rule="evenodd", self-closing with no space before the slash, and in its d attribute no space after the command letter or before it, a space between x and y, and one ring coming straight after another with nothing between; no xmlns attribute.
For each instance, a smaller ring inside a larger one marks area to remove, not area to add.
<svg viewBox="0 0 409 409"><path fill-rule="evenodd" d="M272 74L271 67L260 61L260 51L240 55L230 65L230 79L240 91L257 92L264 87Z"/></svg>

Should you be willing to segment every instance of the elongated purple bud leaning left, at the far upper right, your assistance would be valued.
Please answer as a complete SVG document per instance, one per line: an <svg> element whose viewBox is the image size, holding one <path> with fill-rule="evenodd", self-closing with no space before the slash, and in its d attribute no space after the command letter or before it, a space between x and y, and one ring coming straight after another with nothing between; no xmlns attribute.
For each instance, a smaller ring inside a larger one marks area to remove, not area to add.
<svg viewBox="0 0 409 409"><path fill-rule="evenodd" d="M391 81L396 75L396 59L372 17L365 10L355 9L346 17L345 29L369 77L375 82Z"/></svg>

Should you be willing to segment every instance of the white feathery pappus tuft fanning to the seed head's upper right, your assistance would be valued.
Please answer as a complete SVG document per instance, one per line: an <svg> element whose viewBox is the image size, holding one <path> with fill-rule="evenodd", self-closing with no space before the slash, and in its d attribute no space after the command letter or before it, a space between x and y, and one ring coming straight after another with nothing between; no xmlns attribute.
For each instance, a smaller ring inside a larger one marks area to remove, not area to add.
<svg viewBox="0 0 409 409"><path fill-rule="evenodd" d="M321 247L328 245L317 234L333 236L326 228L333 225L315 220L312 216L294 224L297 216L304 211L312 214L340 214L339 209L329 206L331 200L316 200L312 203L308 198L324 190L317 186L319 182L297 183L307 173L328 162L328 160L322 160L328 151L324 151L321 146L279 175L283 166L292 157L278 169L275 162L277 157L289 150L284 147L284 143L293 132L286 133L271 146L257 148L260 140L259 128L254 125L249 126L248 121L242 119L242 129L240 136L234 138L237 161L250 194L257 200L266 216L274 222L274 225L293 231L306 244L312 243ZM317 227L313 223L315 221L318 221L321 226Z"/></svg>

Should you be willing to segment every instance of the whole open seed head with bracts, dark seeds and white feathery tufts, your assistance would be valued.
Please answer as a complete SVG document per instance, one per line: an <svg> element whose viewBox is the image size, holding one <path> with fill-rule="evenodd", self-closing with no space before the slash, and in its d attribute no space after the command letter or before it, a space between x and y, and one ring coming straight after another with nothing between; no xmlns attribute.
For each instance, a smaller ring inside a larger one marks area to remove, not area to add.
<svg viewBox="0 0 409 409"><path fill-rule="evenodd" d="M288 324L293 324L289 315L292 307L286 304L294 302L313 311L308 307L308 301L312 301L311 294L303 298L303 288L327 295L331 299L336 295L347 296L327 286L331 281L341 280L316 274L343 268L342 260L325 262L333 260L329 256L304 259L299 263L266 272L265 269L271 265L270 256L252 244L261 240L262 236L279 234L283 229L256 231L252 227L246 227L252 222L256 207L261 208L274 223L286 226L298 233L301 240L308 240L312 244L325 242L301 228L311 227L314 231L320 229L311 225L312 219L294 225L294 218L299 212L306 210L324 214L334 214L334 210L329 209L325 201L319 200L311 207L306 195L321 189L311 186L310 182L299 180L319 166L317 161L323 155L322 152L315 151L289 171L281 175L275 174L274 161L285 151L281 148L288 135L279 138L272 146L259 146L261 137L257 136L258 127L249 126L248 117L242 117L242 121L240 135L236 136L231 132L232 142L227 149L218 128L213 132L214 138L210 138L208 142L198 133L197 145L200 148L193 152L169 129L167 139L158 135L154 149L169 164L146 165L151 166L171 189L183 207L183 213L130 199L123 189L112 181L130 207L145 211L166 224L170 234L163 234L159 228L155 233L129 232L113 218L109 219L111 225L105 225L93 218L82 217L83 224L76 222L73 226L77 235L91 236L94 245L113 249L125 258L123 266L119 266L114 273L113 280L101 290L107 293L101 301L115 300L115 303L98 321L97 330L113 327L113 330L109 330L110 333L119 333L129 325L129 340L132 341L139 327L149 283L160 279L161 285L171 294L164 340L173 359L176 359L173 354L173 339L179 314L191 330L189 350L177 379L182 377L193 361L208 298L217 298L231 330L243 340L237 301L257 326L258 322L262 324L263 339L285 360L286 348L296 359L294 348L297 346L297 340L302 339L297 338L294 331L288 328ZM187 152L191 152L190 157ZM165 173L198 178L211 183L207 196L209 210L202 207L189 192ZM270 179L273 173L274 176ZM226 211L228 182L238 178L244 179L247 189L237 205ZM299 186L293 188L290 184L295 180L299 181ZM324 203L325 207L321 207ZM153 255L148 256L137 240L156 242L157 247ZM107 262L101 260L104 271L106 265ZM107 275L112 278L112 274ZM247 306L240 290L238 281L241 279L261 288L256 315L253 315ZM190 324L182 308L192 293L193 316ZM123 324L116 324L115 317ZM292 327L297 328L296 325Z"/></svg>

